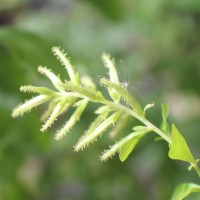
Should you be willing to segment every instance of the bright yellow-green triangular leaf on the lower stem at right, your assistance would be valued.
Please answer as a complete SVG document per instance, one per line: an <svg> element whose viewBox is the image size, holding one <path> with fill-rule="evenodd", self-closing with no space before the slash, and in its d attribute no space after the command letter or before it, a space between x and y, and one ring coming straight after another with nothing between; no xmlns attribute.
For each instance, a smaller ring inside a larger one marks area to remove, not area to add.
<svg viewBox="0 0 200 200"><path fill-rule="evenodd" d="M172 125L171 138L172 144L168 153L169 157L171 159L189 162L200 176L200 170L197 165L197 161L195 161L184 137L181 135L181 133L174 124Z"/></svg>

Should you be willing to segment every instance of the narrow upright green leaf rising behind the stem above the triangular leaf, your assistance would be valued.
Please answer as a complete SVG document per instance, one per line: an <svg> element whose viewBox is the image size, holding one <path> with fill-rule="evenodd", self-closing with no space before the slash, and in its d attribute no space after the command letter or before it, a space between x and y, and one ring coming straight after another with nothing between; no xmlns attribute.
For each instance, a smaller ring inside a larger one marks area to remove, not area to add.
<svg viewBox="0 0 200 200"><path fill-rule="evenodd" d="M164 131L165 133L167 133L169 135L170 126L167 122L167 118L169 115L169 106L167 104L162 104L161 108L162 108L162 123L161 123L160 128L162 131Z"/></svg>

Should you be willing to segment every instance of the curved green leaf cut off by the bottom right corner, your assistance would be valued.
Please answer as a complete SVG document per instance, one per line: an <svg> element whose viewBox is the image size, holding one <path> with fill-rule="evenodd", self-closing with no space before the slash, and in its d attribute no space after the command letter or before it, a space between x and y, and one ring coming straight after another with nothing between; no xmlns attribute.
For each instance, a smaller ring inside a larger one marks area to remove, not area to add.
<svg viewBox="0 0 200 200"><path fill-rule="evenodd" d="M193 192L200 192L200 185L194 183L183 183L175 189L171 200L182 200Z"/></svg>

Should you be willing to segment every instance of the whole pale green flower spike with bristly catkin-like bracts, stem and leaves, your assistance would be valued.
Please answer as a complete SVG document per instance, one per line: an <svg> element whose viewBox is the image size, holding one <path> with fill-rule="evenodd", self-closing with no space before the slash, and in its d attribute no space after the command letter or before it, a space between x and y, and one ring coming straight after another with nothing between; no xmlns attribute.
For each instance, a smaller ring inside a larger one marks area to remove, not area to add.
<svg viewBox="0 0 200 200"><path fill-rule="evenodd" d="M43 121L41 131L45 132L60 115L74 107L75 110L70 118L55 134L55 139L61 140L79 121L89 102L100 103L99 108L95 111L97 115L96 118L74 146L75 151L79 151L93 141L96 141L97 138L108 129L111 129L110 136L112 138L115 137L123 130L130 118L135 118L139 120L143 126L133 127L131 133L127 134L124 138L103 152L101 160L107 160L116 153L119 153L121 161L126 160L139 140L148 133L154 132L169 144L168 155L171 159L188 162L191 166L190 168L194 168L198 175L200 175L197 164L198 160L195 160L192 156L185 139L174 124L170 126L167 122L168 107L162 105L161 127L158 128L153 125L145 117L145 112L153 107L154 104L148 104L145 108L142 108L135 97L120 83L114 59L112 59L110 55L106 53L102 55L103 63L109 72L109 77L100 79L100 85L107 89L110 96L108 99L96 89L95 84L89 77L79 77L79 74L75 72L74 67L71 65L64 51L60 50L58 47L53 47L52 51L58 60L60 60L61 64L64 65L69 80L62 81L50 69L39 66L38 72L51 81L55 90L31 85L21 86L20 90L22 92L32 92L38 95L26 101L24 104L17 106L13 110L13 117L22 116L32 108L48 101L48 108L41 116L41 120Z"/></svg>

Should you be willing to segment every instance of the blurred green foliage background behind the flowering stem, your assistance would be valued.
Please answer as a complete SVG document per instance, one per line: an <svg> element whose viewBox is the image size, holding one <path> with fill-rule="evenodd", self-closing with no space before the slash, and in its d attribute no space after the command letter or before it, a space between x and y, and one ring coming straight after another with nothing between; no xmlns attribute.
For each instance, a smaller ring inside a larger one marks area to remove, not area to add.
<svg viewBox="0 0 200 200"><path fill-rule="evenodd" d="M53 134L64 119L41 134L41 107L12 119L13 107L31 97L19 92L21 85L49 84L38 65L65 78L53 46L65 49L76 69L95 82L106 74L101 53L111 53L121 81L142 104L155 102L150 120L159 125L159 104L169 103L171 121L200 156L199 0L1 0L0 200L168 200L179 183L199 183L153 137L124 163L118 156L100 162L100 152L114 142L106 136L74 152L94 118L92 109L61 142Z"/></svg>

